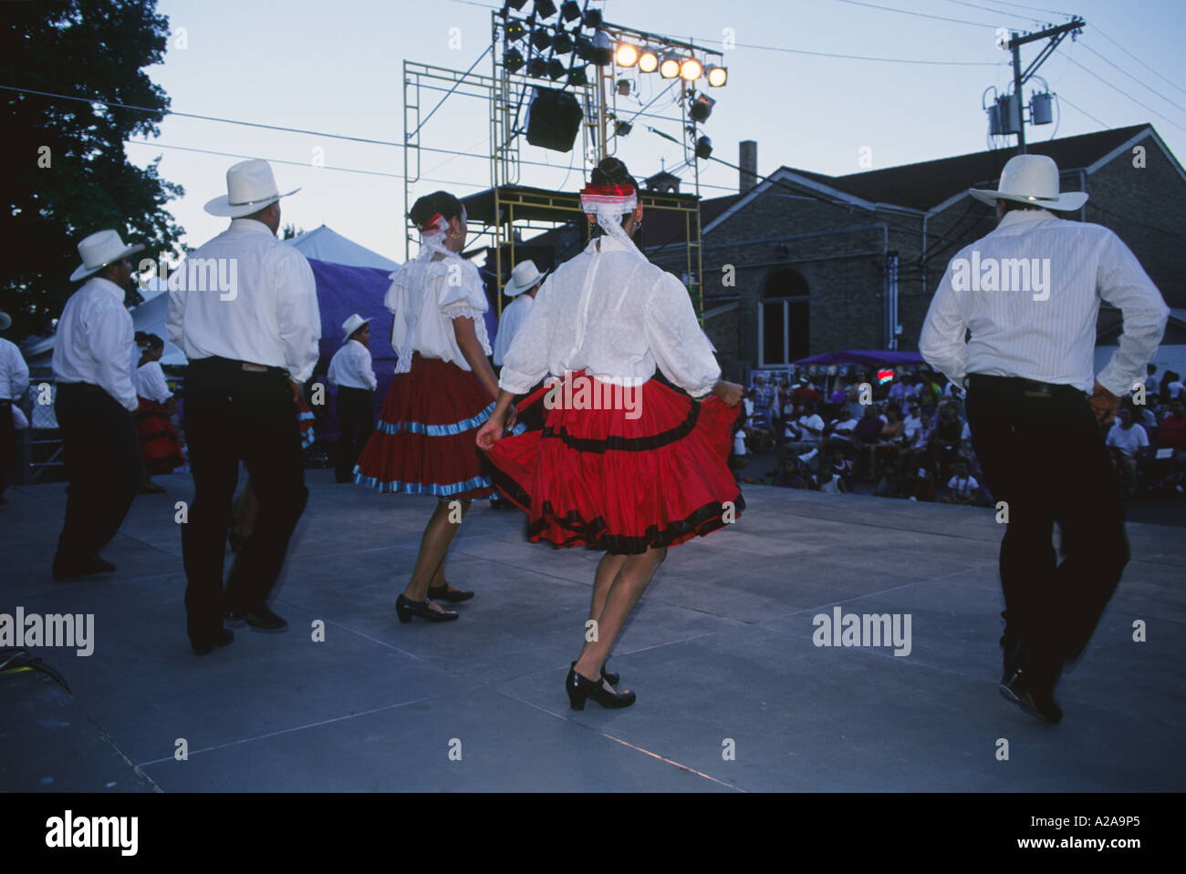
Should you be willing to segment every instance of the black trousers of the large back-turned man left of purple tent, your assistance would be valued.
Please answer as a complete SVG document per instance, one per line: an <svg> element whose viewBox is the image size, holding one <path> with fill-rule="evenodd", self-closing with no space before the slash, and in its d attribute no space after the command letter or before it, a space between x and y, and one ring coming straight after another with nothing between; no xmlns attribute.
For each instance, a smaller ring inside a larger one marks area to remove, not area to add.
<svg viewBox="0 0 1186 874"><path fill-rule="evenodd" d="M254 367L254 365L251 366ZM308 500L287 375L246 371L240 361L192 361L185 378L185 435L193 503L181 526L190 641L211 643L228 610L262 606L283 566L288 540ZM238 463L260 501L255 529L238 553L223 596L223 558Z"/></svg>

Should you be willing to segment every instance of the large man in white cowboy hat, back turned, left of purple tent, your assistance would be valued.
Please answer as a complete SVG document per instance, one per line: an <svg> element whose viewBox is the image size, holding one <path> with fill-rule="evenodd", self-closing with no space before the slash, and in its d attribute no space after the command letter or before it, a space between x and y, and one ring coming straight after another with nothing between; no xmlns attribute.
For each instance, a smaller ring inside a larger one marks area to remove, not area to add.
<svg viewBox="0 0 1186 874"><path fill-rule="evenodd" d="M267 600L308 489L295 397L318 360L321 316L313 271L276 239L281 194L267 161L227 171L227 194L206 204L230 227L191 253L168 281L168 339L190 360L185 433L193 505L181 526L187 630L205 655L234 640L223 618L257 631L288 624ZM215 281L217 279L217 281ZM223 555L240 461L260 512L227 580Z"/></svg>

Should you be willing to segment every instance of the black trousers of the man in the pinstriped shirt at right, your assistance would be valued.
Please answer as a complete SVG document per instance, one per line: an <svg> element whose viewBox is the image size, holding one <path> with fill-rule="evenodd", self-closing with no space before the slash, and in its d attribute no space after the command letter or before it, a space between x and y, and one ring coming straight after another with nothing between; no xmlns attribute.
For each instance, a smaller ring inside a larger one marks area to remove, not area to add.
<svg viewBox="0 0 1186 874"><path fill-rule="evenodd" d="M1116 470L1086 397L1073 386L974 374L965 403L988 488L1008 505L1006 643L1028 643L1038 669L1057 674L1063 660L1083 651L1128 564Z"/></svg>

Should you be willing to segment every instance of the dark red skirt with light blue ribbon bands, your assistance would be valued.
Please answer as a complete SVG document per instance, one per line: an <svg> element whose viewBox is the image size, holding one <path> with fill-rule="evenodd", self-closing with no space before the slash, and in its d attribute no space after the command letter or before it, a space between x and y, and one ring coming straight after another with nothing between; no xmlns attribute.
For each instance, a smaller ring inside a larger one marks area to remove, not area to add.
<svg viewBox="0 0 1186 874"><path fill-rule="evenodd" d="M478 429L495 409L477 377L436 358L413 355L397 373L375 430L358 455L355 482L380 491L467 501L489 497Z"/></svg>

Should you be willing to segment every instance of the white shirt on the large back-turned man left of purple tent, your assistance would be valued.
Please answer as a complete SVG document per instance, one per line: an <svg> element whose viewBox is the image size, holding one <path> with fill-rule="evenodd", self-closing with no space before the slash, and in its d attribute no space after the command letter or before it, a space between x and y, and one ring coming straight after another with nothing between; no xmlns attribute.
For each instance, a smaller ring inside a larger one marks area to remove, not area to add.
<svg viewBox="0 0 1186 874"><path fill-rule="evenodd" d="M307 381L321 339L308 261L267 225L232 219L168 277L168 339L191 361L217 355Z"/></svg>

